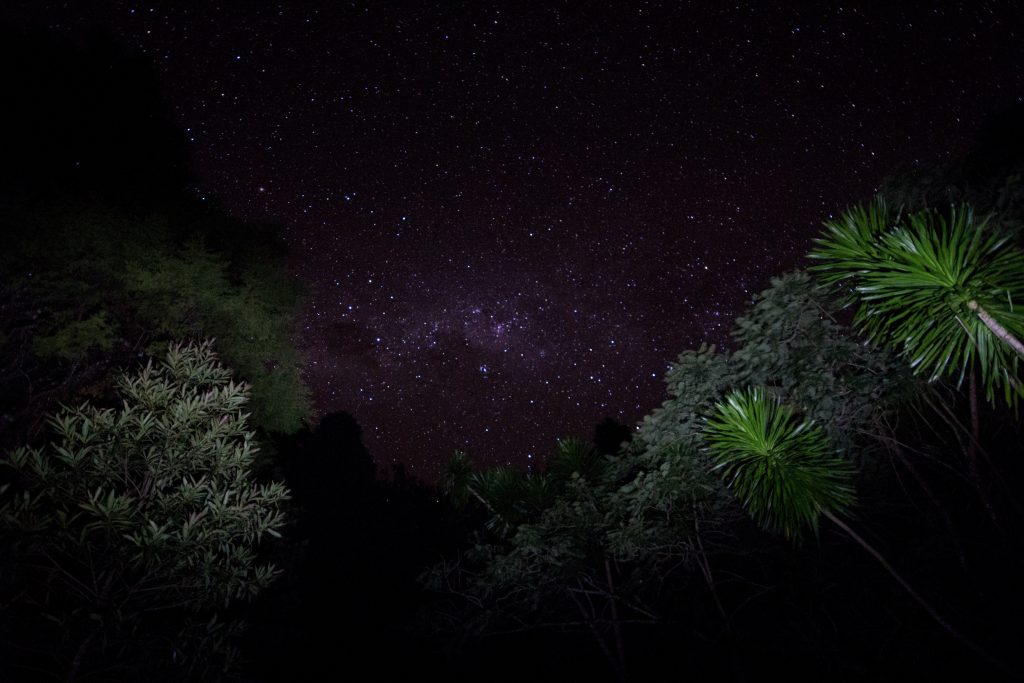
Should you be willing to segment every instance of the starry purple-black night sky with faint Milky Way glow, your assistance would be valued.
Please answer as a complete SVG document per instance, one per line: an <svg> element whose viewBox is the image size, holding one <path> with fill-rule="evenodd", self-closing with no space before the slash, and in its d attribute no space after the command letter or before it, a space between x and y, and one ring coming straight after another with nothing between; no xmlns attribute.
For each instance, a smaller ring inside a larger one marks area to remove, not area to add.
<svg viewBox="0 0 1024 683"><path fill-rule="evenodd" d="M1024 93L1010 3L68 4L25 18L142 50L195 191L284 226L318 411L427 478L634 424L822 218Z"/></svg>

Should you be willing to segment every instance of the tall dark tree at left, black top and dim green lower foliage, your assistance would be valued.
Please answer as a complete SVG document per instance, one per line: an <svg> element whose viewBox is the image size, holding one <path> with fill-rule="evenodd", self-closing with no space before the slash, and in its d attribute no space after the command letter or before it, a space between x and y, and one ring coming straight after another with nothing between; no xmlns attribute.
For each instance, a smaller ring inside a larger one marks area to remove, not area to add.
<svg viewBox="0 0 1024 683"><path fill-rule="evenodd" d="M87 34L0 27L19 131L0 159L0 449L36 438L60 402L104 394L142 353L206 337L252 385L252 423L298 430L311 413L292 334L301 291L280 229L188 189L187 138L152 59Z"/></svg>

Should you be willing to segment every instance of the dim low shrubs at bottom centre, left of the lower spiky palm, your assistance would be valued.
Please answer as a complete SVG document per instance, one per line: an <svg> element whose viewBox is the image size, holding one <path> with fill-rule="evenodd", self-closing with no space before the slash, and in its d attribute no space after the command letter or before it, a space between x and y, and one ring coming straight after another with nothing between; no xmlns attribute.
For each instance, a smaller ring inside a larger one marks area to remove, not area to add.
<svg viewBox="0 0 1024 683"><path fill-rule="evenodd" d="M465 454L451 470L465 472ZM599 456L563 439L540 473L473 472L489 533L425 575L450 599L449 627L466 635L555 626L589 631L612 666L624 623L652 623L664 580L691 566L696 517L714 535L719 496L692 449ZM450 471L451 471L450 470ZM465 497L462 500L469 500ZM616 616L617 615L617 616Z"/></svg>

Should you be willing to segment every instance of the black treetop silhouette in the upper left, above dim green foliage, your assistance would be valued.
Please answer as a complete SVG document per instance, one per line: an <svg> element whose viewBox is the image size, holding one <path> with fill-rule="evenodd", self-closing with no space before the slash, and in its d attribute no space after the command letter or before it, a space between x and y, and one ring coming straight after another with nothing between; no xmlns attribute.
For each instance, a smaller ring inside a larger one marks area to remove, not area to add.
<svg viewBox="0 0 1024 683"><path fill-rule="evenodd" d="M109 36L2 29L0 81L4 194L144 204L184 188L187 143L155 70Z"/></svg>

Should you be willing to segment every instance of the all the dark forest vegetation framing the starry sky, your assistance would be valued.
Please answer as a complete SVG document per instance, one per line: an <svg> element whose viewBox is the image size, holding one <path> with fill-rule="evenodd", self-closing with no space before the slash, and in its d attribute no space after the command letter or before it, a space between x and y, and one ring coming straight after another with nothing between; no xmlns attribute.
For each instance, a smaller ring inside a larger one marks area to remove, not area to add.
<svg viewBox="0 0 1024 683"><path fill-rule="evenodd" d="M146 65L0 45L0 679L1024 676L1019 109L635 429L427 483L313 417L281 236L188 191Z"/></svg>

